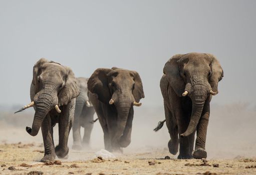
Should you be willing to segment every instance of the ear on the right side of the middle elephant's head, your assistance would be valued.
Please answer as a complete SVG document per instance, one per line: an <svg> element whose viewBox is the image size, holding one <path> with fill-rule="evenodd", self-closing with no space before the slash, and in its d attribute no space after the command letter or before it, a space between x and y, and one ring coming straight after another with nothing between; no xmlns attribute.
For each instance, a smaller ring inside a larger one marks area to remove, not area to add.
<svg viewBox="0 0 256 175"><path fill-rule="evenodd" d="M139 102L141 98L144 98L143 85L138 72L134 71L134 88L132 90L132 94L135 98L136 102Z"/></svg>

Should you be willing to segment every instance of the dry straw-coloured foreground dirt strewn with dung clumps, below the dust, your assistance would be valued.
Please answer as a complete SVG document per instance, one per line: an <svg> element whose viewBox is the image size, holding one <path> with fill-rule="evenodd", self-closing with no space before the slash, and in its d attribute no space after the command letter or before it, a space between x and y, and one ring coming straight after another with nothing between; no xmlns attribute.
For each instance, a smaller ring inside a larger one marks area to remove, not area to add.
<svg viewBox="0 0 256 175"><path fill-rule="evenodd" d="M256 158L164 159L170 155L168 150L152 149L117 153L116 158L101 160L94 157L94 151L70 149L70 157L76 160L58 159L55 163L45 164L39 161L44 155L43 150L39 143L0 144L0 174L256 174Z"/></svg>

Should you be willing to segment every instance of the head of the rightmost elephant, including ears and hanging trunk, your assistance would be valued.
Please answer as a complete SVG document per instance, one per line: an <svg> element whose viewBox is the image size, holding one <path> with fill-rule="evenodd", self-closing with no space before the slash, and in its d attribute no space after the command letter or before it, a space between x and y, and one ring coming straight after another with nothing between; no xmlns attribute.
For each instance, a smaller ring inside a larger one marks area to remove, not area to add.
<svg viewBox="0 0 256 175"><path fill-rule="evenodd" d="M218 81L223 77L223 70L212 54L187 53L172 56L163 72L177 96L188 95L192 101L188 127L180 135L188 136L198 124L206 98L218 93Z"/></svg>

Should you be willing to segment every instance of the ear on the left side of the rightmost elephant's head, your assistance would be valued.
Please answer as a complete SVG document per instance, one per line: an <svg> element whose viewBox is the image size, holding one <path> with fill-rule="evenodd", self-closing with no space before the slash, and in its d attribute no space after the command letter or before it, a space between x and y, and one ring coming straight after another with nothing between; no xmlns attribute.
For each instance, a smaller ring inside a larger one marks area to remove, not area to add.
<svg viewBox="0 0 256 175"><path fill-rule="evenodd" d="M166 74L169 84L178 96L182 96L185 82L179 73L178 61L184 54L175 54L164 65L163 73Z"/></svg>

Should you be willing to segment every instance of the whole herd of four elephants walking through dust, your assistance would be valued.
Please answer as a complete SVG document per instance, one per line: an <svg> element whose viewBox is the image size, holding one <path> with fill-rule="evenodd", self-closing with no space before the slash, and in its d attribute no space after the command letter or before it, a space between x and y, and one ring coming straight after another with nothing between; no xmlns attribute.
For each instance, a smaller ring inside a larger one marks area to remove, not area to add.
<svg viewBox="0 0 256 175"><path fill-rule="evenodd" d="M168 148L178 158L206 158L206 131L210 100L218 93L223 70L209 53L187 53L172 56L164 65L160 88L165 120L170 134ZM68 137L73 129L73 149L88 146L96 111L104 132L105 149L120 151L131 142L133 106L144 98L138 72L123 68L97 68L90 78L75 77L71 68L45 58L33 67L30 88L34 107L32 127L26 131L35 136L41 127L45 154L41 161L68 156ZM17 111L18 112L18 111ZM59 125L59 144L55 146L53 127ZM81 138L80 127L84 127ZM196 132L195 148L194 138Z"/></svg>

